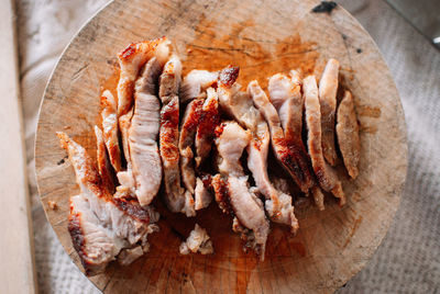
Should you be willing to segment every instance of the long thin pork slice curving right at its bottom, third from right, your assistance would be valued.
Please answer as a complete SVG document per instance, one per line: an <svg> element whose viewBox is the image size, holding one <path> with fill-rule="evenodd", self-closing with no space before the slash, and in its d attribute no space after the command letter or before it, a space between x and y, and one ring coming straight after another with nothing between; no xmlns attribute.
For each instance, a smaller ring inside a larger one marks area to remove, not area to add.
<svg viewBox="0 0 440 294"><path fill-rule="evenodd" d="M318 87L315 76L304 79L306 123L308 128L308 147L315 174L324 191L332 192L339 204L345 204L345 195L336 170L327 163L321 145L321 111L318 99Z"/></svg>

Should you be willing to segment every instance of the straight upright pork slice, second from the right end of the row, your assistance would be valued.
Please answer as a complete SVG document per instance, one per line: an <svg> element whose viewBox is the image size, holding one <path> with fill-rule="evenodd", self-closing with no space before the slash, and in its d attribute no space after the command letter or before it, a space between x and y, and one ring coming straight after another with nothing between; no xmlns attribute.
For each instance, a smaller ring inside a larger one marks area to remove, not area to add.
<svg viewBox="0 0 440 294"><path fill-rule="evenodd" d="M326 160L334 166L337 149L334 147L334 113L337 110L339 61L329 59L319 81L319 103L321 106L322 152Z"/></svg>

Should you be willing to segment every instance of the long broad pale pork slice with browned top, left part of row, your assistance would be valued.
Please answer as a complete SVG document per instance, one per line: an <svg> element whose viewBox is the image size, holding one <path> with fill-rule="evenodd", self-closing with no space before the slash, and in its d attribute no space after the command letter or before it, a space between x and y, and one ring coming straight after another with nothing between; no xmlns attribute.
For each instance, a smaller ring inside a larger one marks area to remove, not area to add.
<svg viewBox="0 0 440 294"><path fill-rule="evenodd" d="M135 82L134 113L129 128L131 168L139 203L148 205L162 181L162 163L157 147L161 105L155 95L161 65L153 57Z"/></svg>

